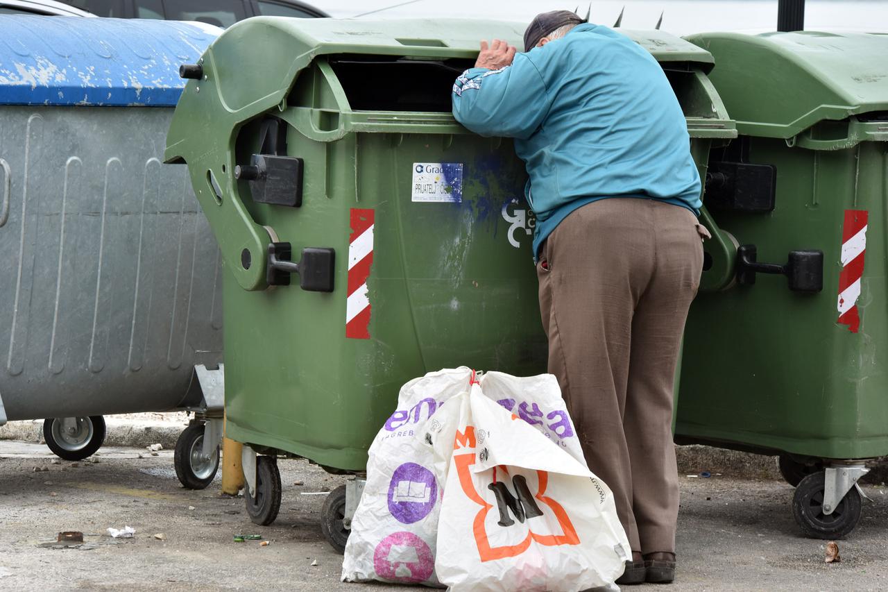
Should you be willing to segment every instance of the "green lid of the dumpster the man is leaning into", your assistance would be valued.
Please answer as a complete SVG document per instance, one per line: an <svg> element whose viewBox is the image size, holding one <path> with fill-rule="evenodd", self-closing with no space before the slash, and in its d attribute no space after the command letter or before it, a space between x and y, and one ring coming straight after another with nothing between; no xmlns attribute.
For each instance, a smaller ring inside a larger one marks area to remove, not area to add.
<svg viewBox="0 0 888 592"><path fill-rule="evenodd" d="M525 26L523 22L503 20L254 17L234 23L210 45L202 56L209 76L202 86L218 97L212 107L218 109L214 111L217 122L223 117L242 123L269 108L285 108L299 73L321 56L464 60L464 65L470 66L478 56L481 39L499 38L517 45L522 43ZM693 61L702 64L703 69L712 64L709 52L668 33L624 32L657 60ZM687 64L678 68L690 69ZM458 73L454 71L453 78ZM192 87L194 99L189 90ZM187 84L182 100L198 100L196 87L196 81ZM202 108L210 108L207 94L201 95L200 101ZM183 140L175 132L175 122L170 134L168 150ZM180 156L172 155L175 151L170 151L170 158Z"/></svg>

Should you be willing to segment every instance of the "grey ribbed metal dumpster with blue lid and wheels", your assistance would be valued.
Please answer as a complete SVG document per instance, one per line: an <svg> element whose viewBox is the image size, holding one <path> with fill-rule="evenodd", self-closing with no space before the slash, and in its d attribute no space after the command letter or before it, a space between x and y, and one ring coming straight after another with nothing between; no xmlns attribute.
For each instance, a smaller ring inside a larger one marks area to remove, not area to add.
<svg viewBox="0 0 888 592"><path fill-rule="evenodd" d="M221 394L201 387L221 361L220 260L186 171L161 159L178 65L220 32L0 16L0 425L48 418L75 460L104 414L190 408L190 486L218 466Z"/></svg>

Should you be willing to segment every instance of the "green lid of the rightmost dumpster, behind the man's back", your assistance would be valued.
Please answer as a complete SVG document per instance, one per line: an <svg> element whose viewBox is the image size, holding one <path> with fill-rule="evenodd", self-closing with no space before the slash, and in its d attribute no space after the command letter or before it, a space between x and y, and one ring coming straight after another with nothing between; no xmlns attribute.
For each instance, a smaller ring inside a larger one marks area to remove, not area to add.
<svg viewBox="0 0 888 592"><path fill-rule="evenodd" d="M710 78L741 133L792 138L823 120L888 118L888 36L704 33L688 41L716 60Z"/></svg>

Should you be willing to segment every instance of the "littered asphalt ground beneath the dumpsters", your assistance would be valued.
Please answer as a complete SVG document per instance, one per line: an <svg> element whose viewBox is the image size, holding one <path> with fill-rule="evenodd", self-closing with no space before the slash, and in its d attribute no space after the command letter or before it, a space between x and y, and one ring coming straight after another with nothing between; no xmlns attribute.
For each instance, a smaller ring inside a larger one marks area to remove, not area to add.
<svg viewBox="0 0 888 592"><path fill-rule="evenodd" d="M141 454L144 458L138 458ZM44 445L0 441L0 587L4 590L410 590L339 581L342 557L321 535L325 493L345 481L304 460L281 460L283 501L271 526L250 523L242 497L183 489L172 452L103 448L98 462L56 460ZM36 469L40 469L36 471ZM678 580L624 589L888 589L888 489L866 485L857 529L824 563L802 537L792 488L774 479L680 477ZM132 539L107 528L129 525ZM85 535L58 548L63 531ZM268 540L234 542L234 534ZM163 535L155 538L155 534Z"/></svg>

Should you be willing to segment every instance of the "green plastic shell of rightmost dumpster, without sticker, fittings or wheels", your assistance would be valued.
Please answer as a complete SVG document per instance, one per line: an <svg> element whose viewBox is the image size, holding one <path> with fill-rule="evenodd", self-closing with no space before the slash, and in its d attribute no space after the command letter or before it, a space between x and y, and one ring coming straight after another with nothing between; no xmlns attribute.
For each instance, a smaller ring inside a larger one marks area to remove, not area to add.
<svg viewBox="0 0 888 592"><path fill-rule="evenodd" d="M761 274L754 285L698 295L686 326L677 436L821 459L888 454L888 123L851 116L829 122L831 138L818 131L825 116L888 105L888 60L876 60L888 56L888 36L693 39L715 54L712 80L749 134L749 162L777 169L773 212L713 212L715 221L740 244L755 244L762 262L821 250L824 276L814 295ZM881 77L861 82L878 68ZM856 140L847 140L849 129ZM847 210L868 211L860 332L836 323Z"/></svg>

